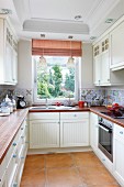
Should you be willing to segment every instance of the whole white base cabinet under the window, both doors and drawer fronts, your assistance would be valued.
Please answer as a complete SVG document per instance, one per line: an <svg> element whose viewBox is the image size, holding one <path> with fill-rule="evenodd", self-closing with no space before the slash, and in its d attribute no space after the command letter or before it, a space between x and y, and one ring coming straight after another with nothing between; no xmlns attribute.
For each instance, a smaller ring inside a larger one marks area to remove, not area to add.
<svg viewBox="0 0 124 187"><path fill-rule="evenodd" d="M30 148L89 146L89 112L30 113Z"/></svg>

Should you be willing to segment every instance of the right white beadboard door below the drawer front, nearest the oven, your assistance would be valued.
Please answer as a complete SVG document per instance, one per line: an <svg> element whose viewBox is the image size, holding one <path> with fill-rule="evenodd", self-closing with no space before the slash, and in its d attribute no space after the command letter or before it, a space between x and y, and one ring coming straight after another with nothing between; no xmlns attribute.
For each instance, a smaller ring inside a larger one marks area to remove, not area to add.
<svg viewBox="0 0 124 187"><path fill-rule="evenodd" d="M88 145L89 119L60 121L60 147Z"/></svg>

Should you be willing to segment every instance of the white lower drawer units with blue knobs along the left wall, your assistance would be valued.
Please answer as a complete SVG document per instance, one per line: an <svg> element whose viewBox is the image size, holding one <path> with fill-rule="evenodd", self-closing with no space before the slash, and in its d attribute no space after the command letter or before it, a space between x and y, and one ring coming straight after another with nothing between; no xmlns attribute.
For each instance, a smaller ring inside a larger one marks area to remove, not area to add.
<svg viewBox="0 0 124 187"><path fill-rule="evenodd" d="M27 129L24 120L0 165L0 187L20 187L29 146Z"/></svg>

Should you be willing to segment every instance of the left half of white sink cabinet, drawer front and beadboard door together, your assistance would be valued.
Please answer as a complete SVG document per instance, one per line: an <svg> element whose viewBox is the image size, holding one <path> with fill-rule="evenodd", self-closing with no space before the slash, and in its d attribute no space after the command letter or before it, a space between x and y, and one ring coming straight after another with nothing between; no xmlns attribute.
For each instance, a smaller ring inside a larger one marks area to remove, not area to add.
<svg viewBox="0 0 124 187"><path fill-rule="evenodd" d="M30 148L59 147L59 112L30 114Z"/></svg>

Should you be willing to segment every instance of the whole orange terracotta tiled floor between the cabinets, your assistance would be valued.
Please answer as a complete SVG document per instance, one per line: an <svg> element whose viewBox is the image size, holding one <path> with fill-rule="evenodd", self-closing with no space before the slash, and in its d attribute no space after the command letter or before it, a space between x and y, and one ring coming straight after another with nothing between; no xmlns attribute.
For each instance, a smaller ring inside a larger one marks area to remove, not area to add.
<svg viewBox="0 0 124 187"><path fill-rule="evenodd" d="M21 187L119 187L92 152L29 155Z"/></svg>

